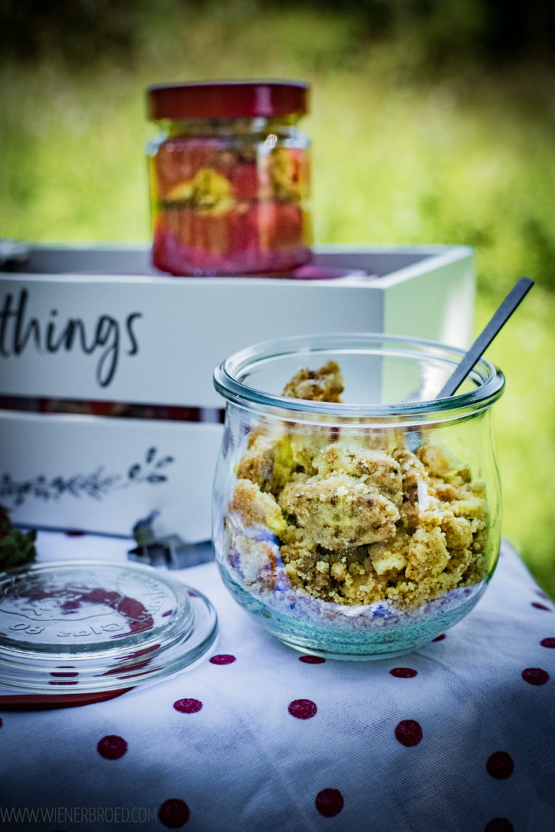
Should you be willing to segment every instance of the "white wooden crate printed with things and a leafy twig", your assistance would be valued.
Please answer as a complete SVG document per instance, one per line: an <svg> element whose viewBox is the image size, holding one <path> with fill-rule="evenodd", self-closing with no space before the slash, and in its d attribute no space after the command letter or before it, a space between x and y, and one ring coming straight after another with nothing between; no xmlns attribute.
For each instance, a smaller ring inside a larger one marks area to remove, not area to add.
<svg viewBox="0 0 555 832"><path fill-rule="evenodd" d="M0 503L14 522L186 541L211 533L221 441L212 371L258 341L332 331L467 347L472 250L320 247L315 263L373 277L175 278L141 246L33 246L0 275ZM201 409L212 421L29 412L37 399Z"/></svg>

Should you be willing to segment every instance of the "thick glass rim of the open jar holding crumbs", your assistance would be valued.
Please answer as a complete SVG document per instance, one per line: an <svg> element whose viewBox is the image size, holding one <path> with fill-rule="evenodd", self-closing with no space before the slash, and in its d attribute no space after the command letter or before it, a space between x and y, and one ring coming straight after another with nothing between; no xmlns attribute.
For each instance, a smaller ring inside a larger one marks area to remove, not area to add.
<svg viewBox="0 0 555 832"><path fill-rule="evenodd" d="M295 411L295 414L327 415L344 418L387 418L399 417L426 422L430 418L461 418L465 414L488 409L503 394L505 378L503 372L488 359L482 358L474 365L468 378L476 385L471 390L454 394L444 399L397 402L391 404L344 404L316 402L305 399L290 399L285 396L266 393L250 387L241 379L247 369L266 359L299 354L308 357L319 352L360 352L390 354L403 358L429 358L444 361L452 371L463 358L465 351L458 347L442 344L410 335L385 333L328 333L293 335L270 341L261 341L241 349L222 361L214 371L214 386L219 394L234 404L249 404L274 412Z"/></svg>

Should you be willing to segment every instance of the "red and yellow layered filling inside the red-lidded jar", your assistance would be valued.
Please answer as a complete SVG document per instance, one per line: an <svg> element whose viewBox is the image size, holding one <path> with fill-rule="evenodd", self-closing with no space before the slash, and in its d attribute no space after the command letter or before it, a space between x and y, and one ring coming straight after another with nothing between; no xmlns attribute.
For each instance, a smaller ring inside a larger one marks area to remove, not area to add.
<svg viewBox="0 0 555 832"><path fill-rule="evenodd" d="M307 152L163 141L151 156L154 265L173 275L241 275L307 263Z"/></svg>

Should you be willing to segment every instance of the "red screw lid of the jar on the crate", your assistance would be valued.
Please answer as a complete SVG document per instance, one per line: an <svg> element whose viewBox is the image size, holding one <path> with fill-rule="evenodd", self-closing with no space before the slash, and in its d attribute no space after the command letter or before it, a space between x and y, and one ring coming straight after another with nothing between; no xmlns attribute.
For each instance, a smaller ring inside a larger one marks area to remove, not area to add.
<svg viewBox="0 0 555 832"><path fill-rule="evenodd" d="M207 81L164 84L147 90L152 121L302 115L308 109L304 81Z"/></svg>

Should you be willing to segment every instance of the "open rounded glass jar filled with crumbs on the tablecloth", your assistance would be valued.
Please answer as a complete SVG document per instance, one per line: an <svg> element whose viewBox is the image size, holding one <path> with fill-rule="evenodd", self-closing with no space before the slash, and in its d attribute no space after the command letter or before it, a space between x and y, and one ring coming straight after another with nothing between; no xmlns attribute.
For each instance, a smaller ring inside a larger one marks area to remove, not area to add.
<svg viewBox="0 0 555 832"><path fill-rule="evenodd" d="M481 359L458 394L434 399L462 356L402 336L309 335L216 369L216 561L281 641L401 656L483 595L501 537L491 407L504 378Z"/></svg>

